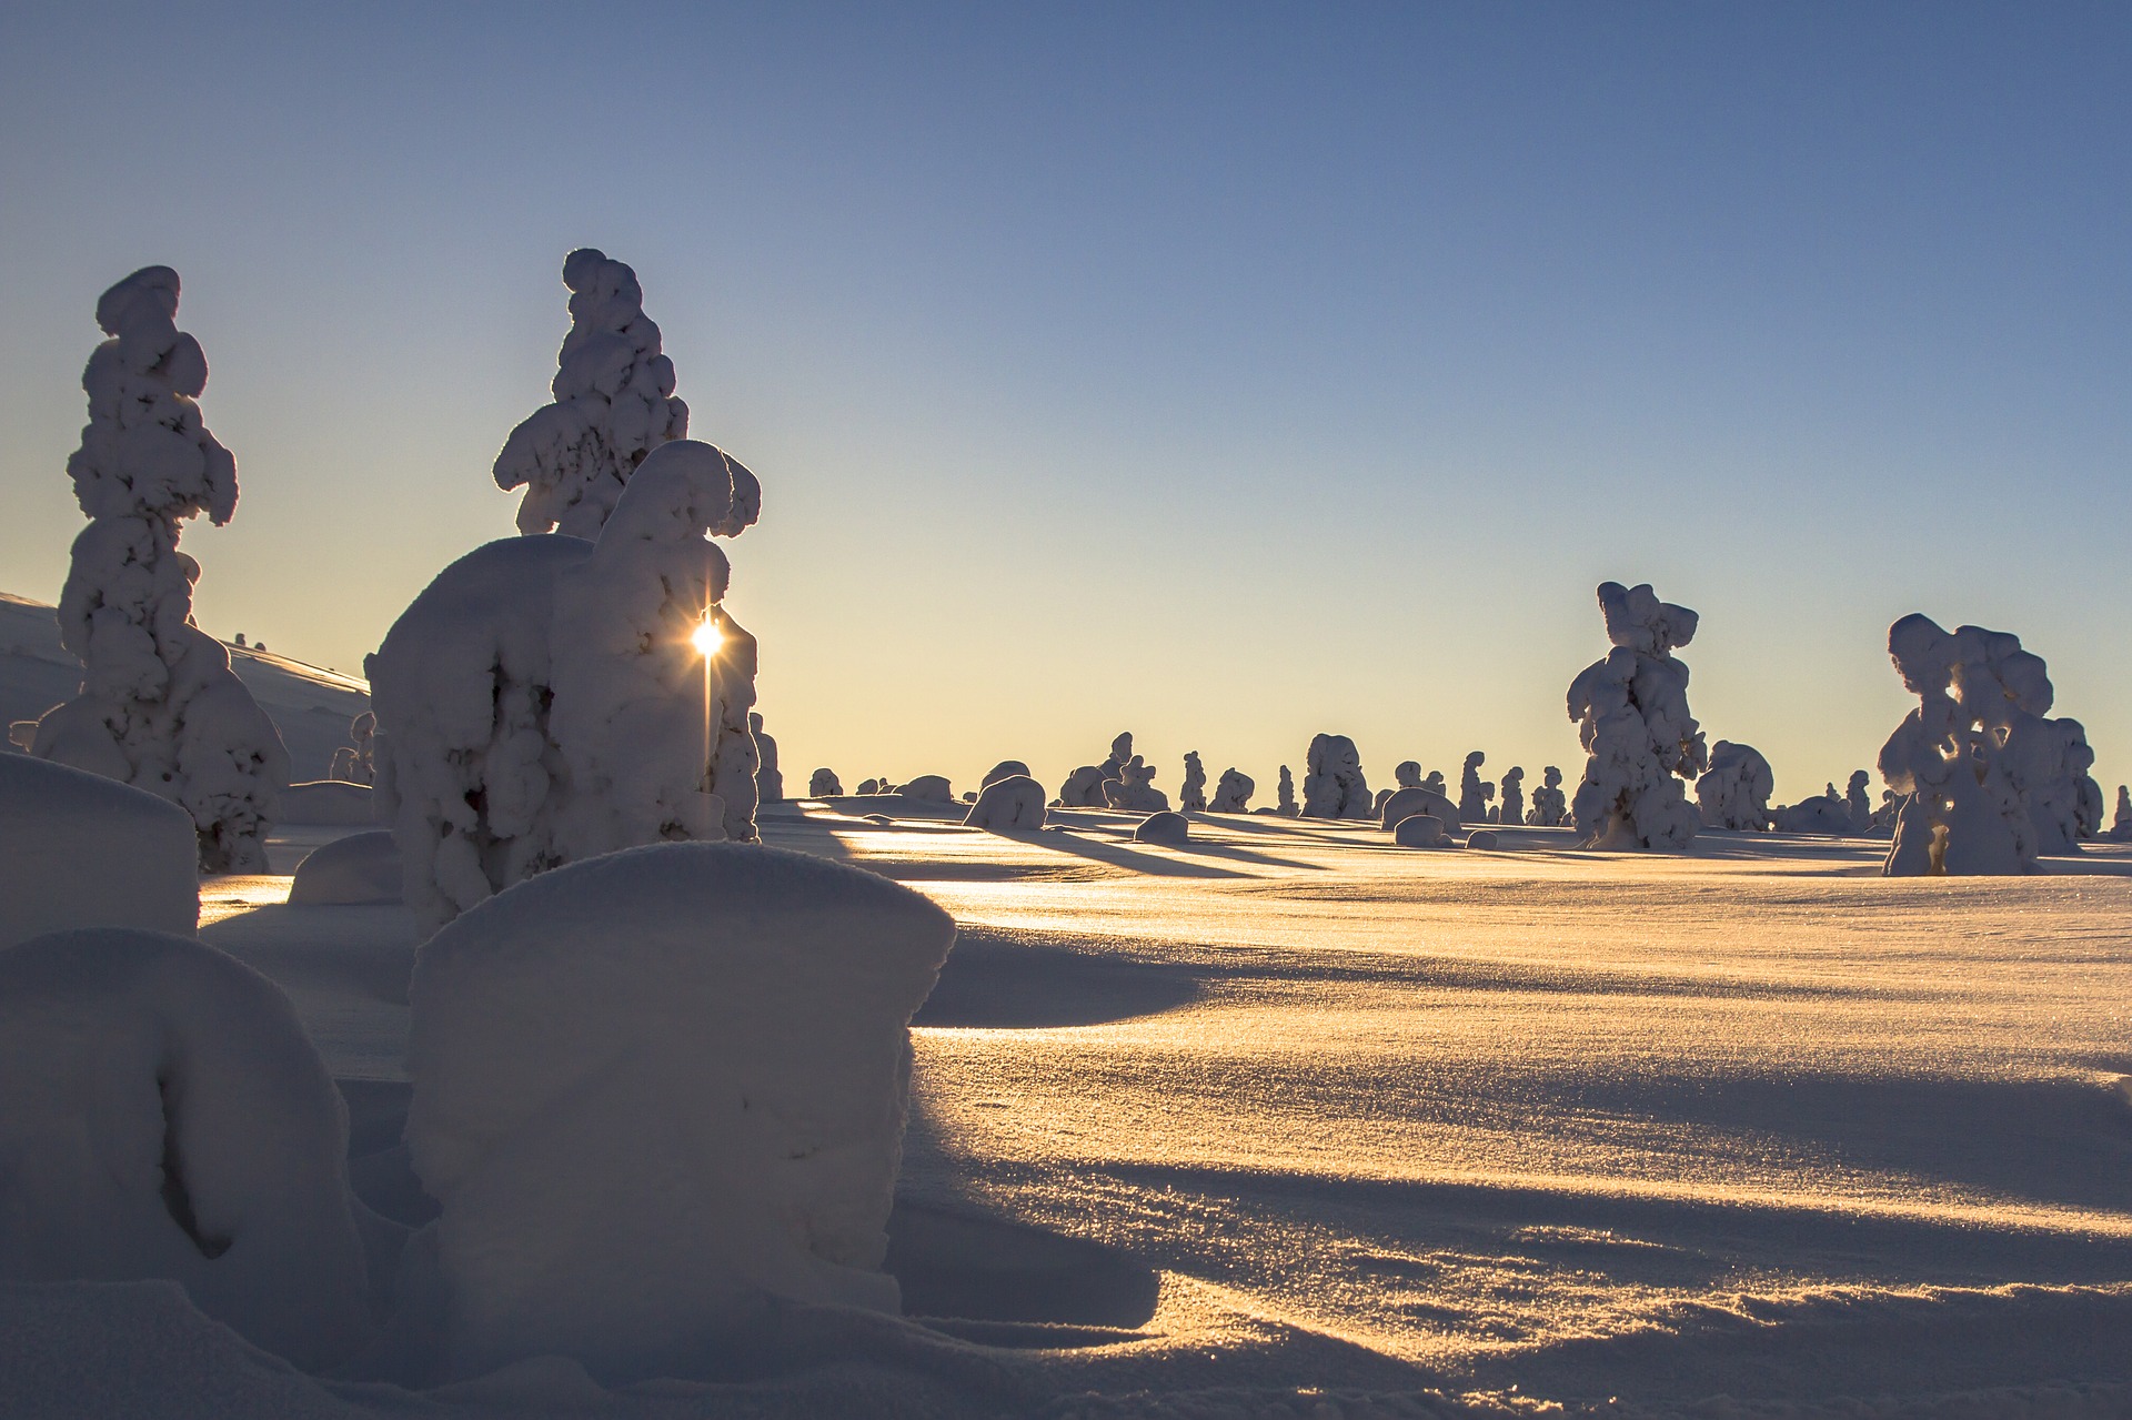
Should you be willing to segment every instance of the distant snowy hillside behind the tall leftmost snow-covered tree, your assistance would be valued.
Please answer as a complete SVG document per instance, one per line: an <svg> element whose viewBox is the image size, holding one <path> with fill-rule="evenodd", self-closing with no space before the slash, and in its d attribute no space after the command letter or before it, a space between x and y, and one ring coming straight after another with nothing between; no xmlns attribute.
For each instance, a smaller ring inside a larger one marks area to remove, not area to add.
<svg viewBox="0 0 2132 1420"><path fill-rule="evenodd" d="M369 710L369 687L273 652L245 646L228 652L230 669L281 731L290 778L326 778L333 751L348 744L348 721ZM60 646L51 606L0 593L0 719L36 719L70 699L79 684L81 661Z"/></svg>

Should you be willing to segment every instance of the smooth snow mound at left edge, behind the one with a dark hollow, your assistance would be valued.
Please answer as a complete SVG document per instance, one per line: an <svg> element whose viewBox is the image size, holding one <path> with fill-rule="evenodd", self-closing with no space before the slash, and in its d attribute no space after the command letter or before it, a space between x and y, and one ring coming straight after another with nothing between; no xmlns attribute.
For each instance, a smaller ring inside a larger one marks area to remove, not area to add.
<svg viewBox="0 0 2132 1420"><path fill-rule="evenodd" d="M177 804L28 755L0 755L0 947L64 927L190 936L198 840Z"/></svg>

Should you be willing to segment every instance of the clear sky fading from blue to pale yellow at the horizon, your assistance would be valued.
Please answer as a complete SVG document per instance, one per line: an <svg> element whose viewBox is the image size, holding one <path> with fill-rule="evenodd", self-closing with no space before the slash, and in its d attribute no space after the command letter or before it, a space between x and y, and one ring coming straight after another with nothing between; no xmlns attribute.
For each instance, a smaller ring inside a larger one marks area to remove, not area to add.
<svg viewBox="0 0 2132 1420"><path fill-rule="evenodd" d="M1576 778L1593 586L1701 612L1795 800L2017 631L2132 778L2132 9L0 9L0 588L164 262L239 461L198 620L360 669L510 535L576 245L631 262L787 782Z"/></svg>

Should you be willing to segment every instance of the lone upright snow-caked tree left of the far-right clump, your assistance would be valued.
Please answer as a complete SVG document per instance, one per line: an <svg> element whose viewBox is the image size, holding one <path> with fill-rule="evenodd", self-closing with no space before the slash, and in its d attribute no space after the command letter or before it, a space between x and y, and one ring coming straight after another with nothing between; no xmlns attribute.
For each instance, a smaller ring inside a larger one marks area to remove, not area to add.
<svg viewBox="0 0 2132 1420"><path fill-rule="evenodd" d="M1599 612L1614 650L1569 682L1586 753L1571 819L1586 849L1686 849L1701 821L1680 778L1708 759L1674 648L1695 638L1695 612L1659 601L1648 582L1601 582Z"/></svg>

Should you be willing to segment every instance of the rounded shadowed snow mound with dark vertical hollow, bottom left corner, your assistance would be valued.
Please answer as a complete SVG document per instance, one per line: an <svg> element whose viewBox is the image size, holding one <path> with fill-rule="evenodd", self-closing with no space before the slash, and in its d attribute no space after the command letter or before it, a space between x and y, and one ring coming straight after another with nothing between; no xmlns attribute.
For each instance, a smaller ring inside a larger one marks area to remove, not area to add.
<svg viewBox="0 0 2132 1420"><path fill-rule="evenodd" d="M0 1279L164 1277L303 1367L371 1328L348 1111L271 981L188 936L0 951Z"/></svg>

